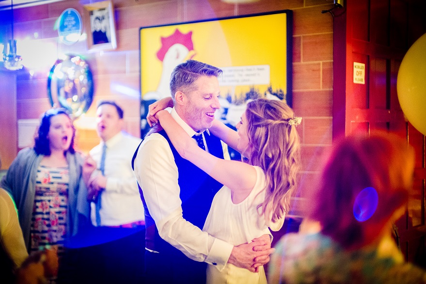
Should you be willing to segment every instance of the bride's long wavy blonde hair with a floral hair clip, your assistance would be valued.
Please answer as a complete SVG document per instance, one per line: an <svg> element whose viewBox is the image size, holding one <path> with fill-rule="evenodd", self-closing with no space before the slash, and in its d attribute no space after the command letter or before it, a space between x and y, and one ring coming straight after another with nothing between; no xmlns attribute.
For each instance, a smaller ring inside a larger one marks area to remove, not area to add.
<svg viewBox="0 0 426 284"><path fill-rule="evenodd" d="M296 189L300 162L300 139L293 110L279 100L256 99L247 104L248 163L266 175L265 201L260 213L273 222L289 212L290 197Z"/></svg>

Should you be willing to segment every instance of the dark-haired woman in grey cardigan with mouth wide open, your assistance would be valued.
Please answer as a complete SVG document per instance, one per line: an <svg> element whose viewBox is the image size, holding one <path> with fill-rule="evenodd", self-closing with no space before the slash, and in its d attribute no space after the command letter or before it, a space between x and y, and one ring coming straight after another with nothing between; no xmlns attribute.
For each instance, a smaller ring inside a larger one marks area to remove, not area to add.
<svg viewBox="0 0 426 284"><path fill-rule="evenodd" d="M29 252L58 246L76 235L89 217L82 156L74 150L75 128L65 109L47 110L33 148L21 150L0 187L13 196Z"/></svg>

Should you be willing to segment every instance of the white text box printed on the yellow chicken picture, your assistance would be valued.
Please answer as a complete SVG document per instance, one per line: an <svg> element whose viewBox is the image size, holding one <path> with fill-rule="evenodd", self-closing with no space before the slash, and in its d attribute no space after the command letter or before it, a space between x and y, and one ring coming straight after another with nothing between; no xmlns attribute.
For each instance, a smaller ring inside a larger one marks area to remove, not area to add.
<svg viewBox="0 0 426 284"><path fill-rule="evenodd" d="M219 76L221 86L269 85L271 81L269 65L220 67L223 73Z"/></svg>

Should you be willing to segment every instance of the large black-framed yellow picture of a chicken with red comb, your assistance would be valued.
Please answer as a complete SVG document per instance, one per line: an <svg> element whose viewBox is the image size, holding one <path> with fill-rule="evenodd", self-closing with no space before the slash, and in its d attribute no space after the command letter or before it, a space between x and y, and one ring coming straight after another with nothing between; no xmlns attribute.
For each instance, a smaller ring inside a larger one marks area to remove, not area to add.
<svg viewBox="0 0 426 284"><path fill-rule="evenodd" d="M171 95L170 74L187 59L223 70L215 115L230 127L250 99L281 99L291 107L292 11L140 28L142 137L148 106Z"/></svg>

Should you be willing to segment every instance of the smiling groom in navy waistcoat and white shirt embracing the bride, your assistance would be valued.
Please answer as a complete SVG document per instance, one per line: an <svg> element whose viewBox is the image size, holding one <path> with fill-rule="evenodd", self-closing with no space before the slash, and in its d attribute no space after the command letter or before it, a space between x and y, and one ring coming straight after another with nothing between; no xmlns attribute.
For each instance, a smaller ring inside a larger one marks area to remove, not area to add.
<svg viewBox="0 0 426 284"><path fill-rule="evenodd" d="M220 108L221 73L209 64L188 60L173 70L170 91L173 118L191 137L201 136L200 146L206 151L224 158L220 140L208 131ZM219 270L227 262L254 270L255 263L269 260L269 231L266 241L237 247L201 231L222 185L181 158L164 131L144 139L133 166L145 206L147 283L205 283L206 263Z"/></svg>

